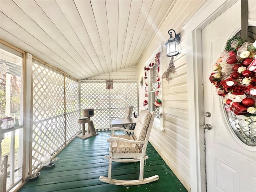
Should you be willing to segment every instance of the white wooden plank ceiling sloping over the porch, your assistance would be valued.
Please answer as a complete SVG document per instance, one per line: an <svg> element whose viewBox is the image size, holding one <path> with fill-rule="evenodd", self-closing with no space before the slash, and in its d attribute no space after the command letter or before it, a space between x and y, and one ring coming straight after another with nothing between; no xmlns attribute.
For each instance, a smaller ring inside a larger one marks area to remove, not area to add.
<svg viewBox="0 0 256 192"><path fill-rule="evenodd" d="M0 38L86 79L136 65L174 3L0 0Z"/></svg>

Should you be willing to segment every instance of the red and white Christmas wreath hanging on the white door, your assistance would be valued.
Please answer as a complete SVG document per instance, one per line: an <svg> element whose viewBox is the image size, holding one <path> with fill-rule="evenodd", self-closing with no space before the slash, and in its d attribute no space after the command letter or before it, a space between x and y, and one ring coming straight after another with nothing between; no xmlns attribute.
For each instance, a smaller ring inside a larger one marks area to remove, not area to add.
<svg viewBox="0 0 256 192"><path fill-rule="evenodd" d="M230 38L213 64L210 82L236 115L256 114L256 41Z"/></svg>

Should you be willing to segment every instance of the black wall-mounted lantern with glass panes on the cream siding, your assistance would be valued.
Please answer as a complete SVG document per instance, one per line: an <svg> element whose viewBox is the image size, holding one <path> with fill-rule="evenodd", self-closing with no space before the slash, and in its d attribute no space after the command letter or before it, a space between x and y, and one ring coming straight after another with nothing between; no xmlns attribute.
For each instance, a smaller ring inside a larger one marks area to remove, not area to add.
<svg viewBox="0 0 256 192"><path fill-rule="evenodd" d="M168 31L168 34L170 35L170 39L166 42L166 52L167 52L167 57L172 57L180 54L178 44L180 44L180 34L176 34L174 31L174 37L172 37L172 31L173 29L170 29Z"/></svg>

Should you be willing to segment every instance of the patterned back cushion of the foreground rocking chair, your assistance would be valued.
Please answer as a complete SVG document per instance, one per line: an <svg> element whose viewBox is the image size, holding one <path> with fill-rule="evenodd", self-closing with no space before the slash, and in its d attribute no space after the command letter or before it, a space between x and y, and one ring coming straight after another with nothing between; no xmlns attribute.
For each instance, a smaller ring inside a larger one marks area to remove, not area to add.
<svg viewBox="0 0 256 192"><path fill-rule="evenodd" d="M150 112L146 110L140 111L140 114L138 115L138 121L134 128L134 135L139 141L145 140L150 119L151 119Z"/></svg>

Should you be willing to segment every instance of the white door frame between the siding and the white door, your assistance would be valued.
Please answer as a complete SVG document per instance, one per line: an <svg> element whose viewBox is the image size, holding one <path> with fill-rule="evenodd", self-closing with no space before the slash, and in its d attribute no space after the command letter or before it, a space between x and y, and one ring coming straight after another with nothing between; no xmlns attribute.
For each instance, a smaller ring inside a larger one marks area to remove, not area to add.
<svg viewBox="0 0 256 192"><path fill-rule="evenodd" d="M186 34L188 84L190 186L192 192L206 191L204 152L204 106L202 79L202 29L238 0L205 1L183 26Z"/></svg>

